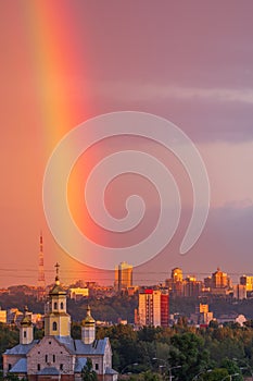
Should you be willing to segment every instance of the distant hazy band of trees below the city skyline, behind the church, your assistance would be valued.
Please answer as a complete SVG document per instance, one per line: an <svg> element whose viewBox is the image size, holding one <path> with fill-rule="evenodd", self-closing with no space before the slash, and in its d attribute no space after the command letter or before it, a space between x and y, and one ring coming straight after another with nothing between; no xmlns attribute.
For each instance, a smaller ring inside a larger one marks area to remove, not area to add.
<svg viewBox="0 0 253 381"><path fill-rule="evenodd" d="M199 303L207 303L210 310L214 312L215 318L222 315L244 315L245 318L253 319L253 299L236 300L231 297L224 298L220 296L208 295L206 297L170 297L169 314L179 314L180 316L190 317L194 314L195 306ZM92 316L96 320L105 320L117 323L119 319L134 323L135 309L138 307L138 295L114 295L97 298L96 296L73 300L67 298L67 311L73 321L81 321L86 316L87 304L90 304ZM45 303L38 302L36 297L17 293L13 295L0 295L0 307L8 309L16 307L24 310L24 306L35 314L43 314Z"/></svg>

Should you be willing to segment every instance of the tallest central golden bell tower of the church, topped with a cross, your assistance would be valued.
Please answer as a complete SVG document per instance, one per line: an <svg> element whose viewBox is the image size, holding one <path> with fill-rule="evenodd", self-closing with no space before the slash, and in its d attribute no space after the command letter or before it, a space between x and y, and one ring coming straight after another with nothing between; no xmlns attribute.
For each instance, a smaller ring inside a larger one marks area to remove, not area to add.
<svg viewBox="0 0 253 381"><path fill-rule="evenodd" d="M49 292L49 310L45 316L45 335L69 336L71 317L66 312L66 292L60 284L60 265L56 263L55 268L55 283L52 290Z"/></svg>

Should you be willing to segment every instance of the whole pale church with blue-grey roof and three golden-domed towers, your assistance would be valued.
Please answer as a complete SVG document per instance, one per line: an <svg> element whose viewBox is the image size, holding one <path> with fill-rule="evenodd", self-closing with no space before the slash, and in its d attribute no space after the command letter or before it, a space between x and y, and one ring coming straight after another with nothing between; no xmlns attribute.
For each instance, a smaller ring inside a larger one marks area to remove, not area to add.
<svg viewBox="0 0 253 381"><path fill-rule="evenodd" d="M117 372L112 369L109 337L96 340L96 321L89 307L81 322L81 340L71 337L66 292L60 285L56 268L45 316L43 339L34 340L34 328L26 312L21 322L20 344L3 354L3 373L28 378L28 381L80 381L87 358L91 359L99 381L117 380Z"/></svg>

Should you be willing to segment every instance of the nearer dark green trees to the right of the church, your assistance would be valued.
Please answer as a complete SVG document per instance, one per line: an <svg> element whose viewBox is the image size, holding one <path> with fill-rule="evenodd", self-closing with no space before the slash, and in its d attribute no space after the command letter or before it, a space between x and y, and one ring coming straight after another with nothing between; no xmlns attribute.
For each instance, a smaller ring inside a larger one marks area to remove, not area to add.
<svg viewBox="0 0 253 381"><path fill-rule="evenodd" d="M244 327L215 322L207 329L188 327L185 319L173 328L146 327L135 331L130 325L100 328L98 337L109 336L113 348L113 366L124 372L139 372L132 380L153 380L154 374L169 368L175 381L190 381L197 374L202 380L218 381L238 374L232 380L251 376L253 368L253 323ZM198 378L195 378L197 380Z"/></svg>

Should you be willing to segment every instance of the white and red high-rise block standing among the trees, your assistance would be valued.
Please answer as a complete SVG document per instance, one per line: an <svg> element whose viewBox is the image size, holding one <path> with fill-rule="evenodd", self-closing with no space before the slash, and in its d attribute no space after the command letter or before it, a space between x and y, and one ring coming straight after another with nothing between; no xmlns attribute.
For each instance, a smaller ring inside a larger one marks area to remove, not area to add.
<svg viewBox="0 0 253 381"><path fill-rule="evenodd" d="M139 294L136 323L139 325L168 327L168 293L146 290Z"/></svg>

